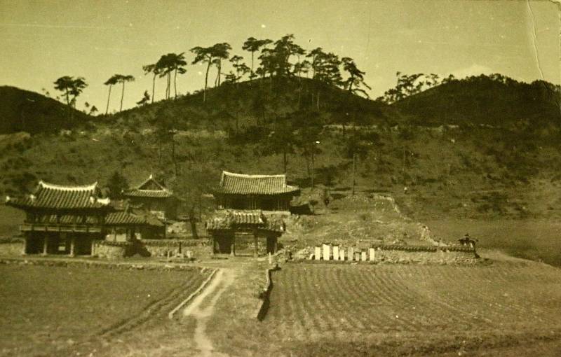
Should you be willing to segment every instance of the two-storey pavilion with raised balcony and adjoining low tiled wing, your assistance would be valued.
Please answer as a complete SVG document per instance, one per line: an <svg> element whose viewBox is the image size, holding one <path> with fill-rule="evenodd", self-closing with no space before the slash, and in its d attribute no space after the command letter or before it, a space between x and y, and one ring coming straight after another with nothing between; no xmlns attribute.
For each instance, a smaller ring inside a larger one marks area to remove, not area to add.
<svg viewBox="0 0 561 357"><path fill-rule="evenodd" d="M31 195L6 197L6 204L25 211L20 230L25 254L90 255L95 240L125 232L127 239L151 225L146 218L116 210L102 198L97 183L60 186L39 181Z"/></svg>

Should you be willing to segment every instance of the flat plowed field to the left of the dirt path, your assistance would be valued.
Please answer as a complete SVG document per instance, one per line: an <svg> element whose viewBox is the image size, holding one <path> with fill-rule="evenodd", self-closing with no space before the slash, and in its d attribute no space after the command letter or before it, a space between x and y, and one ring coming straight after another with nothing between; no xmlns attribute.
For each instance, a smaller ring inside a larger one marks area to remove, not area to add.
<svg viewBox="0 0 561 357"><path fill-rule="evenodd" d="M64 356L168 311L201 285L199 269L0 265L0 356Z"/></svg>

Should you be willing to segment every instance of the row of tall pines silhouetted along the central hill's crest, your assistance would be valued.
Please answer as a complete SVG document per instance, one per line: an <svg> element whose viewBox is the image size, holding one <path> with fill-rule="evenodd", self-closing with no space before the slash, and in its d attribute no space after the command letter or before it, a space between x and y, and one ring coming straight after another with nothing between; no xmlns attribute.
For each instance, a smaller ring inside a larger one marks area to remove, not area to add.
<svg viewBox="0 0 561 357"><path fill-rule="evenodd" d="M215 70L214 87L223 83L238 83L241 80L255 80L257 78L270 78L271 85L274 81L284 78L313 78L317 83L312 94L312 102L319 108L322 88L325 85L334 85L347 90L352 94L361 94L368 97L367 90L371 87L365 83L365 72L361 71L351 57L339 57L333 52L323 48L314 48L306 51L295 43L295 36L287 34L276 41L269 38L248 38L241 46L241 50L250 53L250 62L246 64L241 55L232 55L229 43L215 43L208 47L195 46L189 50L194 56L191 65L205 65L205 82L203 86L203 103L207 99L209 76L211 69ZM224 68L229 64L229 71ZM163 99L177 98L177 76L187 73L189 66L186 52L167 53L154 63L145 64L142 70L145 75L152 77L151 94L144 91L142 99L137 102L141 106L154 102L156 94L156 80L165 80L165 94ZM346 76L345 76L346 74ZM344 76L346 78L344 78ZM121 104L119 111L123 110L126 83L135 80L130 74L114 74L109 77L104 85L108 87L107 106L105 114L109 113L111 89L114 85L121 85ZM76 97L87 87L83 77L74 78L63 76L55 81L55 89L60 90L66 97L67 106L75 107ZM97 108L96 108L97 111Z"/></svg>

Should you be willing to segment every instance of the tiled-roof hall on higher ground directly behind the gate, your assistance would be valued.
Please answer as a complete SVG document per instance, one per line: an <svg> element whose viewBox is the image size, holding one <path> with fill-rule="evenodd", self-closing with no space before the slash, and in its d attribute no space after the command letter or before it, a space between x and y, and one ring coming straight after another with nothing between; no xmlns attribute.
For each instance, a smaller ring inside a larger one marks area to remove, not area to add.
<svg viewBox="0 0 561 357"><path fill-rule="evenodd" d="M222 172L215 192L221 209L288 211L297 186L286 183L286 175L247 175Z"/></svg>

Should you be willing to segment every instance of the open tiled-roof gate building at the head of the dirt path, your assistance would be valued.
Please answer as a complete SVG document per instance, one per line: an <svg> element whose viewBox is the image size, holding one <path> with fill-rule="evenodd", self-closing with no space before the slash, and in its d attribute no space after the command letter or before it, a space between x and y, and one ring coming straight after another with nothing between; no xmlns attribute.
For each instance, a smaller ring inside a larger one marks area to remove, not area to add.
<svg viewBox="0 0 561 357"><path fill-rule="evenodd" d="M262 211L219 211L205 223L211 237L210 253L236 255L236 238L253 238L253 255L259 255L259 238L266 240L266 253L276 253L278 237L285 232L282 218L265 216Z"/></svg>

